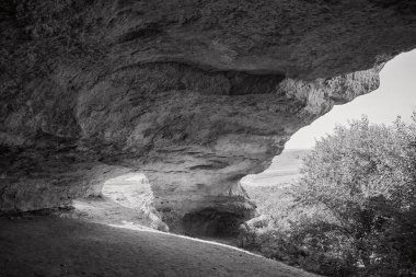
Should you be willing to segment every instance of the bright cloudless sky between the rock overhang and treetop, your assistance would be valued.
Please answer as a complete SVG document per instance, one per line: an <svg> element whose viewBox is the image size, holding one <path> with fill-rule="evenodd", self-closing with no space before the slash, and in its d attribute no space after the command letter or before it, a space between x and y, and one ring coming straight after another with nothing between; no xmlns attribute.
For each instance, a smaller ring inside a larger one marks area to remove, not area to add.
<svg viewBox="0 0 416 277"><path fill-rule="evenodd" d="M416 108L416 49L389 61L380 77L381 84L377 91L345 105L335 106L330 113L296 132L285 148L312 148L315 139L331 134L335 125L359 119L362 114L377 124L389 125L397 115L409 122L412 112Z"/></svg>

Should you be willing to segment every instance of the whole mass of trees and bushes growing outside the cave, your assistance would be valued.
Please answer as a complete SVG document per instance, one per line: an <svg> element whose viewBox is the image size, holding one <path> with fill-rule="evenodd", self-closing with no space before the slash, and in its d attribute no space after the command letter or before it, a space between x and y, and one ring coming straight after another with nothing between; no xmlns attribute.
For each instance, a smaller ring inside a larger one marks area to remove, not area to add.
<svg viewBox="0 0 416 277"><path fill-rule="evenodd" d="M415 120L338 126L301 173L247 188L267 220L249 222L241 246L327 276L416 274Z"/></svg>

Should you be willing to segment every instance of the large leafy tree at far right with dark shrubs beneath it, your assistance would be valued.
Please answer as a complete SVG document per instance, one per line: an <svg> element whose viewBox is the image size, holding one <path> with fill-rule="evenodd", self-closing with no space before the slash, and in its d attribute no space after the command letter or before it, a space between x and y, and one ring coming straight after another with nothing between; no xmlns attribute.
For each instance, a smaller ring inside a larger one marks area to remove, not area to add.
<svg viewBox="0 0 416 277"><path fill-rule="evenodd" d="M317 141L293 187L298 204L321 210L297 223L301 243L320 236L322 254L366 276L415 274L415 130L401 118L384 126L363 116Z"/></svg>

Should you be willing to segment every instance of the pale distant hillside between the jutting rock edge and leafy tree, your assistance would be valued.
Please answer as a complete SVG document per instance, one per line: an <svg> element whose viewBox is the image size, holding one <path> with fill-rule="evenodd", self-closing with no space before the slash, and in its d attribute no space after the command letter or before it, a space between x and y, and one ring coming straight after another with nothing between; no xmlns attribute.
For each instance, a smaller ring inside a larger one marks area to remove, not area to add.
<svg viewBox="0 0 416 277"><path fill-rule="evenodd" d="M247 175L242 180L243 185L269 186L284 185L300 176L302 159L311 152L310 149L285 150L273 159L270 166L259 174Z"/></svg>

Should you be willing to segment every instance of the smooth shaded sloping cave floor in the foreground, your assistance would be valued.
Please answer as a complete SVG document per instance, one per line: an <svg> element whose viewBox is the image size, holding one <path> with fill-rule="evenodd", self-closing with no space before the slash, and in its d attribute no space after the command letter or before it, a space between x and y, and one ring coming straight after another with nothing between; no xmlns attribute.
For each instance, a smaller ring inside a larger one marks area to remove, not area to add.
<svg viewBox="0 0 416 277"><path fill-rule="evenodd" d="M45 216L0 218L0 276L314 276L230 246Z"/></svg>

